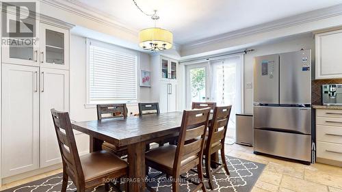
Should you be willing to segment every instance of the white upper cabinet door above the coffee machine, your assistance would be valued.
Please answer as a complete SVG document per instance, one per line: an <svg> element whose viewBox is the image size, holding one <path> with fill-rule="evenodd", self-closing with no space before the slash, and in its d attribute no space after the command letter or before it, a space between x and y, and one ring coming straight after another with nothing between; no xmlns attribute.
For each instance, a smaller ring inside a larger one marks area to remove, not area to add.
<svg viewBox="0 0 342 192"><path fill-rule="evenodd" d="M342 30L315 34L315 79L342 78Z"/></svg>

